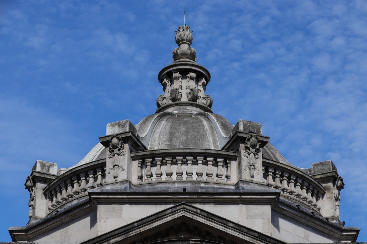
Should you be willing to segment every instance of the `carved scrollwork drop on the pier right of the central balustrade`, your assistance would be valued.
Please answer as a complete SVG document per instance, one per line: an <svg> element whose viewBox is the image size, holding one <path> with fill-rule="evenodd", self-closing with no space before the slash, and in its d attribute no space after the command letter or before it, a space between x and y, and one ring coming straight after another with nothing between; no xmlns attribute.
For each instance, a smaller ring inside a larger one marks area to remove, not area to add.
<svg viewBox="0 0 367 244"><path fill-rule="evenodd" d="M254 179L255 172L260 172L258 168L255 168L255 159L260 158L260 153L260 139L255 135L246 138L243 154L248 158L248 166L245 166L245 170L250 170L251 180Z"/></svg>

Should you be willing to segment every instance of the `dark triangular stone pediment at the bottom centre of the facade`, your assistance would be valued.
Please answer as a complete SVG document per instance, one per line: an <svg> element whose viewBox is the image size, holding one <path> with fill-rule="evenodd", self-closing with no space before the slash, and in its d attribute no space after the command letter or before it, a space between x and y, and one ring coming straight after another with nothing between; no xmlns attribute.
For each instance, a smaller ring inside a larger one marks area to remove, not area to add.
<svg viewBox="0 0 367 244"><path fill-rule="evenodd" d="M179 240L181 243L183 240L191 240L207 243L284 244L187 203L177 204L83 244L175 243Z"/></svg>

